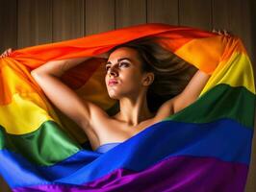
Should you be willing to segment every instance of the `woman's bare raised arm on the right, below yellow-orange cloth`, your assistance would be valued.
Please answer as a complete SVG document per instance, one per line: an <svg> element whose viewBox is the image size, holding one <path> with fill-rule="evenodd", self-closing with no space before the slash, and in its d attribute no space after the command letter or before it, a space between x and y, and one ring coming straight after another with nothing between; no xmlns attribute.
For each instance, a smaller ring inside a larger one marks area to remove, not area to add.
<svg viewBox="0 0 256 192"><path fill-rule="evenodd" d="M177 112L183 108L191 105L199 96L205 84L208 82L211 75L197 70L193 75L191 81L184 90L177 96L173 98L172 108L173 112Z"/></svg>

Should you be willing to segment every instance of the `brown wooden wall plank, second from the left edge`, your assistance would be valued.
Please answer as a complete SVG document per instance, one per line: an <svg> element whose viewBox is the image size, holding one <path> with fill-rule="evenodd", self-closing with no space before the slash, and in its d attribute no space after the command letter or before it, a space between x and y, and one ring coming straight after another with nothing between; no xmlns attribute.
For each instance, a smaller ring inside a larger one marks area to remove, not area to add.
<svg viewBox="0 0 256 192"><path fill-rule="evenodd" d="M52 1L18 1L18 48L52 41Z"/></svg>

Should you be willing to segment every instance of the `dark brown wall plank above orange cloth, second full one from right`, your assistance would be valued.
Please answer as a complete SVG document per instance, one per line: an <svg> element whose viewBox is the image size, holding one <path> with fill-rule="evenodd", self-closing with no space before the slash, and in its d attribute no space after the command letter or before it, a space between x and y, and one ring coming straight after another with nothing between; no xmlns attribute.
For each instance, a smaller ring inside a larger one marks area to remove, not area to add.
<svg viewBox="0 0 256 192"><path fill-rule="evenodd" d="M179 0L179 24L212 30L211 0Z"/></svg>

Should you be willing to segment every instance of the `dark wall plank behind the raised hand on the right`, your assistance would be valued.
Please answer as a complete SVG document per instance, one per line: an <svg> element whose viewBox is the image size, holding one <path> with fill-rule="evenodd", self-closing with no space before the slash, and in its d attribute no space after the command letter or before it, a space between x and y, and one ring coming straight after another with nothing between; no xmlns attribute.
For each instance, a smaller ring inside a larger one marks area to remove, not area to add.
<svg viewBox="0 0 256 192"><path fill-rule="evenodd" d="M254 3L252 3L254 2ZM256 3L250 0L213 0L213 27L216 29L226 29L235 36L239 36L243 40L243 44L248 51L248 55L252 60L255 74L255 37L256 34L255 18ZM254 15L253 15L254 14ZM254 31L253 31L254 29ZM254 42L254 43L253 43ZM255 77L255 76L254 76ZM255 120L256 122L256 115ZM256 124L254 124L256 129ZM254 132L251 160L249 165L249 173L245 186L246 192L256 191L256 132Z"/></svg>

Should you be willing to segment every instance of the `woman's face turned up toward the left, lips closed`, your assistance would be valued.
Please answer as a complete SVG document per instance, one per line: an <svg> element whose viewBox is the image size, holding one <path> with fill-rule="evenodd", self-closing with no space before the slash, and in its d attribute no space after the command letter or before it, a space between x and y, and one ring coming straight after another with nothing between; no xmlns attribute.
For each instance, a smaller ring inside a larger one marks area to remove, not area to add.
<svg viewBox="0 0 256 192"><path fill-rule="evenodd" d="M106 63L105 82L113 99L137 96L141 90L143 73L137 51L129 47L116 49Z"/></svg>

